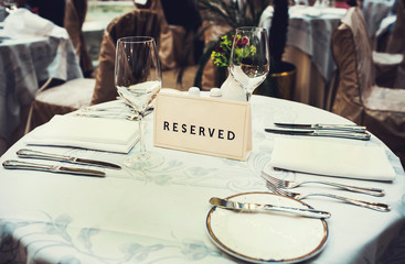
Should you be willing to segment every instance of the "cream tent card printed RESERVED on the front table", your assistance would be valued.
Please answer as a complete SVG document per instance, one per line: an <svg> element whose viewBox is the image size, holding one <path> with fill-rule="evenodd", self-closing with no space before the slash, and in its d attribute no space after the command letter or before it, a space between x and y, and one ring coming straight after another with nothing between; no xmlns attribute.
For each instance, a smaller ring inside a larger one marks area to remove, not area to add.
<svg viewBox="0 0 405 264"><path fill-rule="evenodd" d="M245 161L252 150L251 105L161 92L154 101L153 144Z"/></svg>

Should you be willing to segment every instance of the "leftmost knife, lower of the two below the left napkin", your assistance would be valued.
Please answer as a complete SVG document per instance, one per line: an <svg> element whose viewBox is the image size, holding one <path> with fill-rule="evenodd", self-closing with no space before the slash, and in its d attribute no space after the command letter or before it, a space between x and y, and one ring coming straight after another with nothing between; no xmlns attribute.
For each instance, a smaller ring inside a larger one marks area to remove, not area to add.
<svg viewBox="0 0 405 264"><path fill-rule="evenodd" d="M85 176L96 176L96 177L105 177L106 174L100 170L95 169L86 169L86 168L75 168L75 167L63 167L57 165L45 165L38 163L26 163L19 161L6 161L3 162L4 168L21 168L21 169L35 169L43 172L52 172L52 173L63 173L63 174L77 174Z"/></svg>

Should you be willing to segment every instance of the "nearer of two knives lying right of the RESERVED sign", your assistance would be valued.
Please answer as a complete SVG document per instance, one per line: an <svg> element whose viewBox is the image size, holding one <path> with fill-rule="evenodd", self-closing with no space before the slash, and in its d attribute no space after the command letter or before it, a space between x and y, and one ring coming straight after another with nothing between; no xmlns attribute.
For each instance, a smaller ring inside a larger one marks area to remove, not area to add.
<svg viewBox="0 0 405 264"><path fill-rule="evenodd" d="M290 135L312 135L312 136L333 136L353 140L370 140L367 132L330 131L330 130L299 130L299 129L265 129L266 132Z"/></svg>

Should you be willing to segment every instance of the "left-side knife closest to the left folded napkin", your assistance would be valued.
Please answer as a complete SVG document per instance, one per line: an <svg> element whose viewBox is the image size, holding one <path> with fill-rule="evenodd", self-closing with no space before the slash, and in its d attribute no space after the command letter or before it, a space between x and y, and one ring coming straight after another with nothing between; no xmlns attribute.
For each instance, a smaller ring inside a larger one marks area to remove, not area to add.
<svg viewBox="0 0 405 264"><path fill-rule="evenodd" d="M18 151L17 155L19 157L42 158L42 160L51 160L51 161L57 161L57 162L67 162L72 164L94 165L98 167L121 169L120 166L113 164L113 163L81 158L81 157L73 157L73 156L64 156L64 155L57 155L57 154L49 154L49 153L32 151L28 148L22 148Z"/></svg>

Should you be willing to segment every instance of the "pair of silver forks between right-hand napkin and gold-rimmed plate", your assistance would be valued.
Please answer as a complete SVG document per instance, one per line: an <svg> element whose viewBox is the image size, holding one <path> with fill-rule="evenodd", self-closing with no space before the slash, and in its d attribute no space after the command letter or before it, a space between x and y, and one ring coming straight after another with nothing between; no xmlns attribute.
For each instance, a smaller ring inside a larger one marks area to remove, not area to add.
<svg viewBox="0 0 405 264"><path fill-rule="evenodd" d="M381 197L381 196L384 196L384 190L383 189L356 187L356 186L341 185L341 184L335 184L335 183L331 183L331 182L319 182L319 180L300 182L300 183L291 182L291 180L281 180L281 179L278 179L274 176L270 176L269 174L267 174L265 172L262 172L262 177L266 180L266 187L270 191L273 191L275 194L288 196L288 197L291 197L291 198L295 198L295 199L298 199L298 200L306 199L307 197L310 197L310 196L323 196L323 197L338 199L338 200L348 202L350 205L360 206L360 207L364 207L364 208L369 208L369 209L373 209L373 210L377 210L377 211L386 212L386 211L391 210L388 205L385 205L385 204L382 204L382 202L364 201L364 200L352 199L352 198L338 196L338 195L332 195L332 194L327 194L327 193L301 194L301 193L294 193L294 191L286 190L286 189L297 188L302 184L317 183L317 184L324 184L324 185L329 185L329 186L334 186L334 187L338 187L340 189L355 191L355 193L359 193L359 194Z"/></svg>

